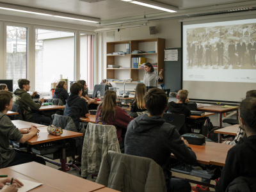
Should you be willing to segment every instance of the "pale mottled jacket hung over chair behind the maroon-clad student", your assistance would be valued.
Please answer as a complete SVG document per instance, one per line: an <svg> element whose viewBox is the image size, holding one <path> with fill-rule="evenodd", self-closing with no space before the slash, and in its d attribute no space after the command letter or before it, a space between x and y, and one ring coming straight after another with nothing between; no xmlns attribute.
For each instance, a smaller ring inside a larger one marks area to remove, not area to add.
<svg viewBox="0 0 256 192"><path fill-rule="evenodd" d="M82 177L87 177L88 173L99 172L102 157L108 150L120 153L116 127L89 123L82 150Z"/></svg>

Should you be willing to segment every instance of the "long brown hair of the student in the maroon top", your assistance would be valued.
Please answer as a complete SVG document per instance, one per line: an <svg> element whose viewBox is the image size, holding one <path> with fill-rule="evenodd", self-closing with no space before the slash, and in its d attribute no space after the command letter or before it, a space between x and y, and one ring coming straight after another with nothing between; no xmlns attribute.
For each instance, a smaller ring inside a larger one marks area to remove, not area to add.
<svg viewBox="0 0 256 192"><path fill-rule="evenodd" d="M104 100L97 109L97 114L99 113L99 109L100 109L100 116L99 116L100 121L108 123L109 117L115 120L116 92L114 92L113 90L106 90L104 94Z"/></svg>

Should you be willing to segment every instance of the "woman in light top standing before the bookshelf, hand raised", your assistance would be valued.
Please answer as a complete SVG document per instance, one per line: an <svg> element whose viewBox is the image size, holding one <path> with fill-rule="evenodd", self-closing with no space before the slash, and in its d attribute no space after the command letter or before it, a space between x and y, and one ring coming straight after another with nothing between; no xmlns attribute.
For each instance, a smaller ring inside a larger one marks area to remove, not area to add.
<svg viewBox="0 0 256 192"><path fill-rule="evenodd" d="M154 73L154 67L152 66L151 63L146 63L144 65L144 70L146 72L144 78L143 78L143 83L145 84L147 91L150 88L154 88L157 87L157 83L158 82L163 82L163 69L160 70L159 72L159 76L157 76L157 74Z"/></svg>

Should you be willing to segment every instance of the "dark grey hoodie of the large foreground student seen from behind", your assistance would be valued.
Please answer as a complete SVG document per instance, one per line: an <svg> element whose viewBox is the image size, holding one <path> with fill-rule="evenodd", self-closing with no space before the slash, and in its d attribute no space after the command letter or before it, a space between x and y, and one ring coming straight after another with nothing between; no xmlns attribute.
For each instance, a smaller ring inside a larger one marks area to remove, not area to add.
<svg viewBox="0 0 256 192"><path fill-rule="evenodd" d="M181 140L177 129L159 116L140 115L132 120L125 134L125 154L148 157L164 172L171 154L186 164L195 164L196 155Z"/></svg>

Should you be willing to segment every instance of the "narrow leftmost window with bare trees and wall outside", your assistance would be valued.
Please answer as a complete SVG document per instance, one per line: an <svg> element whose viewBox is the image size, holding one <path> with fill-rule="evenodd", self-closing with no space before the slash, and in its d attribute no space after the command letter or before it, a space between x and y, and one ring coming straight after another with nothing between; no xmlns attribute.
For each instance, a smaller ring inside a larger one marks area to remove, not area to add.
<svg viewBox="0 0 256 192"><path fill-rule="evenodd" d="M13 79L14 89L19 79L28 77L28 29L6 26L6 79Z"/></svg>

